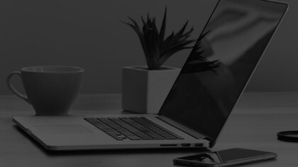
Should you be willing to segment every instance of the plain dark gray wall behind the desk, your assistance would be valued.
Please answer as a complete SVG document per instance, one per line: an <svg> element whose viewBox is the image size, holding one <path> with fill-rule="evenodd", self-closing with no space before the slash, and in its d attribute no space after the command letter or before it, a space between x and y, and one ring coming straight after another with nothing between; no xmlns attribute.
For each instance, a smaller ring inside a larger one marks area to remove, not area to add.
<svg viewBox="0 0 298 167"><path fill-rule="evenodd" d="M247 91L298 91L298 2L285 1L289 11ZM10 93L6 76L11 71L34 65L83 67L82 93L120 93L121 68L145 64L145 58L136 34L119 19L131 16L140 22L140 14L150 11L160 21L167 6L167 33L189 19L197 37L215 4L215 0L1 0L0 94ZM181 67L188 53L175 54L166 65Z"/></svg>

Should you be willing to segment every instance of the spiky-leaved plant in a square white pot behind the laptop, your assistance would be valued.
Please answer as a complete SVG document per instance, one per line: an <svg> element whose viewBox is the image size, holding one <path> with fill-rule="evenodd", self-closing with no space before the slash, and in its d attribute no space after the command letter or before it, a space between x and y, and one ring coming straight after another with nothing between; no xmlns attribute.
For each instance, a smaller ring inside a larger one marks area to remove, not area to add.
<svg viewBox="0 0 298 167"><path fill-rule="evenodd" d="M167 8L163 16L160 31L155 18L141 16L143 28L133 18L128 17L129 25L138 35L145 54L146 66L123 67L122 107L135 113L158 113L167 93L172 88L180 69L162 67L167 59L181 50L192 47L188 45L195 40L188 40L194 28L185 32L188 21L177 33L165 38Z"/></svg>

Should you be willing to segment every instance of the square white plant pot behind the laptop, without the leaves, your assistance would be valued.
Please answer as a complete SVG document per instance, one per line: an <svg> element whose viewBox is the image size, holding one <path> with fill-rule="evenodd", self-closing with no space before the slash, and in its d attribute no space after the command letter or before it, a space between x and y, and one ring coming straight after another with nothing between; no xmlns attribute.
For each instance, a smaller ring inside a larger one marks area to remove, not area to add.
<svg viewBox="0 0 298 167"><path fill-rule="evenodd" d="M122 108L133 113L157 114L180 69L162 67L123 67Z"/></svg>

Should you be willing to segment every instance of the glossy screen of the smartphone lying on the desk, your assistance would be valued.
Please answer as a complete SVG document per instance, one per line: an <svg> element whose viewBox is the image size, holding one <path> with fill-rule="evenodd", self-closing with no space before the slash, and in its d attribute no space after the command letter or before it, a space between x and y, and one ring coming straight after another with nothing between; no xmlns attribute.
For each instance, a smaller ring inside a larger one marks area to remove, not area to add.
<svg viewBox="0 0 298 167"><path fill-rule="evenodd" d="M232 161L241 161L253 158L260 158L266 156L269 158L275 158L276 154L267 151L257 151L250 149L226 149L223 151L207 152L203 154L197 154L194 156L185 156L180 159L187 161L197 161L199 163L229 163Z"/></svg>

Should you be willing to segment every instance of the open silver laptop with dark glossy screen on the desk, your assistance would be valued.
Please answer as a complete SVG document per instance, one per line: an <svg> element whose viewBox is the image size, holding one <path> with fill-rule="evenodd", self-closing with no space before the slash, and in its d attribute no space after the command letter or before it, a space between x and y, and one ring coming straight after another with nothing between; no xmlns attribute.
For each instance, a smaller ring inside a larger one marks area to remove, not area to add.
<svg viewBox="0 0 298 167"><path fill-rule="evenodd" d="M13 117L48 150L206 148L223 125L287 4L220 0L158 115Z"/></svg>

